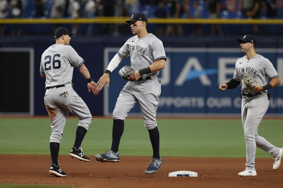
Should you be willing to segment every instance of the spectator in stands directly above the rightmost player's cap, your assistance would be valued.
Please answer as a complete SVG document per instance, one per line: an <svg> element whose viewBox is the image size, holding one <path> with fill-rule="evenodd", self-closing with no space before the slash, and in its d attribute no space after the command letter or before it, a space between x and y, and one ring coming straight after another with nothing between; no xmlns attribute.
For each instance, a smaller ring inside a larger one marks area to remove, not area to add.
<svg viewBox="0 0 283 188"><path fill-rule="evenodd" d="M261 12L261 0L241 0L240 8L244 17L258 19ZM259 27L253 25L254 34L258 34Z"/></svg>

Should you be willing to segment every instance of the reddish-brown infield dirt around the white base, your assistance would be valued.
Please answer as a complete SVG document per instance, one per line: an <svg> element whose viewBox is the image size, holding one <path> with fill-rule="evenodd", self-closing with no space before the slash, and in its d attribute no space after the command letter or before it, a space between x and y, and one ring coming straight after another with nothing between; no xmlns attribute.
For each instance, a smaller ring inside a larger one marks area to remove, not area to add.
<svg viewBox="0 0 283 188"><path fill-rule="evenodd" d="M0 155L0 182L75 185L85 187L283 187L283 166L272 170L273 159L256 159L257 176L238 177L245 169L244 158L162 157L156 174L144 174L151 157L121 156L119 163L82 162L59 156L67 177L49 174L49 155ZM282 164L283 165L283 164ZM168 177L169 172L188 170L198 177Z"/></svg>

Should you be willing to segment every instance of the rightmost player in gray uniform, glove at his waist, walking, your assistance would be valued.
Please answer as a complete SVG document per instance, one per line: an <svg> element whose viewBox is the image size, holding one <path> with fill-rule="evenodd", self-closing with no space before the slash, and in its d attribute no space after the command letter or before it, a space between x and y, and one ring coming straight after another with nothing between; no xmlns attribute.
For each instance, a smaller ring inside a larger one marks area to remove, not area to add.
<svg viewBox="0 0 283 188"><path fill-rule="evenodd" d="M220 84L219 89L236 88L241 84L242 123L246 141L246 169L238 176L256 176L255 156L256 147L269 152L274 157L273 169L278 169L283 155L283 148L275 147L257 133L259 123L269 105L268 89L281 83L278 73L272 63L255 52L256 38L245 35L237 39L241 43L241 51L246 54L238 58L235 65L233 79L228 83ZM268 77L271 81L268 83Z"/></svg>

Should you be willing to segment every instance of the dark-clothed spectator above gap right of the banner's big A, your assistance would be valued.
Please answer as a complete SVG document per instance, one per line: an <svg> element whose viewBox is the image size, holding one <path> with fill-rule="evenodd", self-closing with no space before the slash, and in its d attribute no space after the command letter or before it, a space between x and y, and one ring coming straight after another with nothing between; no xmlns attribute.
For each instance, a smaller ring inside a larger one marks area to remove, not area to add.
<svg viewBox="0 0 283 188"><path fill-rule="evenodd" d="M209 12L209 18L215 19L220 18L220 0L207 0L208 5L208 12ZM210 34L212 36L215 36L215 30L217 29L219 35L223 35L223 31L219 24L210 24Z"/></svg>

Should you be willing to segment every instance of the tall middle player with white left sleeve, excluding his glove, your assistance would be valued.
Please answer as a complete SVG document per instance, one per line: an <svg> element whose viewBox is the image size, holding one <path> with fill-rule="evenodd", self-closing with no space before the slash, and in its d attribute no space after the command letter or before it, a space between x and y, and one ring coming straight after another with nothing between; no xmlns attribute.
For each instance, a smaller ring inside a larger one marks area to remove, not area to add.
<svg viewBox="0 0 283 188"><path fill-rule="evenodd" d="M123 58L131 56L131 68L136 81L128 82L119 94L113 111L113 131L111 150L94 158L101 162L119 162L119 143L124 131L124 120L128 112L139 102L145 128L149 132L152 143L153 157L149 162L146 174L154 174L162 166L159 155L159 131L156 123L156 111L161 93L159 70L165 68L165 51L162 41L151 33L147 33L147 17L142 13L135 13L131 20L131 31L135 35L129 38L110 61L105 73L97 82L98 90L107 83L109 75Z"/></svg>

